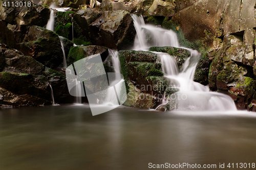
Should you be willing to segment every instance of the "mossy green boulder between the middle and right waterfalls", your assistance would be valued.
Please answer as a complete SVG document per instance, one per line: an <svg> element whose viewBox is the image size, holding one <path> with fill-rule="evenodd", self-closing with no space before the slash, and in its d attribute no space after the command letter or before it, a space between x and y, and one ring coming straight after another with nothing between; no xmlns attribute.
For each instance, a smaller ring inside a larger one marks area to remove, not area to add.
<svg viewBox="0 0 256 170"><path fill-rule="evenodd" d="M124 50L118 52L124 80L132 81L140 91L163 98L168 82L161 71L157 55L151 52Z"/></svg>

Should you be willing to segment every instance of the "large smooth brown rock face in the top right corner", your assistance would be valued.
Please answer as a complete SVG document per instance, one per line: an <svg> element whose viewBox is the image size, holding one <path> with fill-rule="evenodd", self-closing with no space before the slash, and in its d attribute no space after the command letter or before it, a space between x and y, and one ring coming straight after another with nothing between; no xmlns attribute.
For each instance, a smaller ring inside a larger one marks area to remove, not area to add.
<svg viewBox="0 0 256 170"><path fill-rule="evenodd" d="M243 34L243 31L255 27L254 5L251 4L255 4L255 0L235 0L232 3L228 0L201 0L179 11L174 19L180 23L188 40ZM209 38L208 45L212 42Z"/></svg>

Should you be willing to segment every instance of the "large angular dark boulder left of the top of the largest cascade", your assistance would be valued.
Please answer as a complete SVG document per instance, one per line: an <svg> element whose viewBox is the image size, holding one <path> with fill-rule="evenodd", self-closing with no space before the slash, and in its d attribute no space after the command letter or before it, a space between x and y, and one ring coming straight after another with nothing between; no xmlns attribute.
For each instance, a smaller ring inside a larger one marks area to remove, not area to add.
<svg viewBox="0 0 256 170"><path fill-rule="evenodd" d="M125 10L104 11L89 28L93 44L118 50L130 48L136 35L133 19Z"/></svg>

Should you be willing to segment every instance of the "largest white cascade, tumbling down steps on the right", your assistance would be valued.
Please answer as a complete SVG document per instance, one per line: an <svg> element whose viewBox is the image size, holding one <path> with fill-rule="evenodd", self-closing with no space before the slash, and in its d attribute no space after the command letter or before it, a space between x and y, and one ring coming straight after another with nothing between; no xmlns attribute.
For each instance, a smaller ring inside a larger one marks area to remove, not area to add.
<svg viewBox="0 0 256 170"><path fill-rule="evenodd" d="M134 50L148 51L151 46L174 46L184 48L190 52L190 57L183 64L181 72L179 72L177 62L173 56L166 53L153 52L161 60L164 76L169 78L171 82L178 84L177 86L172 86L173 88L178 88L178 91L169 96L168 99L175 110L237 110L233 100L228 95L210 92L207 86L193 81L198 61L201 58L198 51L181 47L174 31L146 25L142 16L133 14L132 18L137 32Z"/></svg>

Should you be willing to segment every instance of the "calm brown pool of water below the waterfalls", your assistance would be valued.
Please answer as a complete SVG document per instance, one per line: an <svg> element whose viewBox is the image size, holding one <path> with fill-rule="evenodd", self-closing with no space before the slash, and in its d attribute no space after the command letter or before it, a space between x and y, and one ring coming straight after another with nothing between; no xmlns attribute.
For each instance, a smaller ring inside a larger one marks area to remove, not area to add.
<svg viewBox="0 0 256 170"><path fill-rule="evenodd" d="M219 169L219 163L256 163L256 118L250 114L119 107L92 116L89 106L2 109L0 169L150 169L148 163Z"/></svg>

